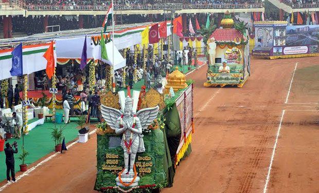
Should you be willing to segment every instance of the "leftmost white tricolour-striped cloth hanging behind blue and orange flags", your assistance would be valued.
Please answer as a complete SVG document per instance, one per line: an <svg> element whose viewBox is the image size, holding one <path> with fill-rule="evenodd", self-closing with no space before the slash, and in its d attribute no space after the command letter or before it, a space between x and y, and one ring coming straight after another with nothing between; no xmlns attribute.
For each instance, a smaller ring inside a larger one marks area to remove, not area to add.
<svg viewBox="0 0 319 193"><path fill-rule="evenodd" d="M31 74L46 69L47 61L43 54L50 43L23 46L23 74ZM55 44L54 44L55 46ZM0 50L0 80L11 78L10 70L12 64L11 49ZM56 50L54 50L56 58Z"/></svg>

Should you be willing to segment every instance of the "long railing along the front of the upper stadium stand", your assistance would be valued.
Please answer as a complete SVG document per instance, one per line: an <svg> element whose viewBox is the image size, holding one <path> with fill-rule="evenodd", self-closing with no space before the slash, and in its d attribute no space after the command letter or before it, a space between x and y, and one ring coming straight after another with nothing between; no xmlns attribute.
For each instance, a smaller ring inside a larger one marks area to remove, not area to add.
<svg viewBox="0 0 319 193"><path fill-rule="evenodd" d="M159 5L114 5L115 11L125 10L169 10L172 7L180 9L248 9L262 8L262 4L159 4ZM60 5L26 5L29 11L105 11L109 6L60 6Z"/></svg>

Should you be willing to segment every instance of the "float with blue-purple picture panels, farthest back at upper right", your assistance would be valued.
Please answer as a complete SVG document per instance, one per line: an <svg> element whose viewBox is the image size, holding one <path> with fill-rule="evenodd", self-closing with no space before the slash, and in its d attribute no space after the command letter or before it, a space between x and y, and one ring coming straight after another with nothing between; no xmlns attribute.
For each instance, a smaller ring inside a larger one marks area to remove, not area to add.
<svg viewBox="0 0 319 193"><path fill-rule="evenodd" d="M267 59L318 56L319 25L288 25L287 21L254 22L252 55Z"/></svg>

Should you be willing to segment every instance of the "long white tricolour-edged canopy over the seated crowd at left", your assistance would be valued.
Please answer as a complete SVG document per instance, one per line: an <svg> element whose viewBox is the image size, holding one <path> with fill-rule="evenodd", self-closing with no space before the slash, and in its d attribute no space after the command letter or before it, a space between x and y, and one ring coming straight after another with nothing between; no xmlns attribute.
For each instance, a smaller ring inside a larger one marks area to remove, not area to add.
<svg viewBox="0 0 319 193"><path fill-rule="evenodd" d="M126 65L126 60L123 59L117 49L128 48L136 44L141 43L141 32L152 23L142 23L133 25L121 25L116 26L114 31L114 69L117 70ZM129 27L129 28L128 28ZM167 35L171 34L170 31L171 22L167 22ZM100 45L94 44L94 37L99 36L102 28L95 29L79 29L69 30L61 32L49 32L31 35L27 37L11 38L0 40L0 47L5 49L0 50L0 80L11 78L9 73L11 69L11 51L12 47L19 43L34 44L23 46L23 62L25 74L44 70L46 68L46 60L42 56L48 44L44 44L48 41L54 40L56 42L56 58L57 59L80 59L82 56L82 48L84 44L85 35L87 35L87 58L100 60ZM43 47L44 46L44 47ZM8 49L10 47L10 49ZM113 50L112 42L106 44L107 52L109 56L107 62L113 65Z"/></svg>

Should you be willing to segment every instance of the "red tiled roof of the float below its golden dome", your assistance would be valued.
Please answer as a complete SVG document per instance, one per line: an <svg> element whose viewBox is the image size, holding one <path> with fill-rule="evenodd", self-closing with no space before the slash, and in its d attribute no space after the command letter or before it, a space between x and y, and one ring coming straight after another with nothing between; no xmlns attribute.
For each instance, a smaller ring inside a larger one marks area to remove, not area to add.
<svg viewBox="0 0 319 193"><path fill-rule="evenodd" d="M243 39L242 33L234 28L216 29L209 38L215 38L216 42L238 42Z"/></svg>

